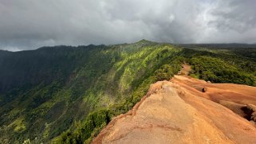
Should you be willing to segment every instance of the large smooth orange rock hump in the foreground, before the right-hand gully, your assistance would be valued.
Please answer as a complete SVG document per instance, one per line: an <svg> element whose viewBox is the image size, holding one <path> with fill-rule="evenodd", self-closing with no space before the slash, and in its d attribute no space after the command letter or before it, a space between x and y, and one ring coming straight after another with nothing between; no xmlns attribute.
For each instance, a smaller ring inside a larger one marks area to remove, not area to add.
<svg viewBox="0 0 256 144"><path fill-rule="evenodd" d="M256 128L249 121L196 93L203 92L169 81L152 84L148 95L113 119L93 143L256 142Z"/></svg>

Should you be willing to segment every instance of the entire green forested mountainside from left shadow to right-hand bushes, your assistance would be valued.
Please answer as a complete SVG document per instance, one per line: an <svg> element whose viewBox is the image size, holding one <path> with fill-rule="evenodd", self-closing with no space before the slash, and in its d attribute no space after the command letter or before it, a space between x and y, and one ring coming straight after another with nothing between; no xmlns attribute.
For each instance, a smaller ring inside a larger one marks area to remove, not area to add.
<svg viewBox="0 0 256 144"><path fill-rule="evenodd" d="M145 40L0 51L0 142L90 142L183 62L191 64L191 76L255 86L255 53Z"/></svg>

